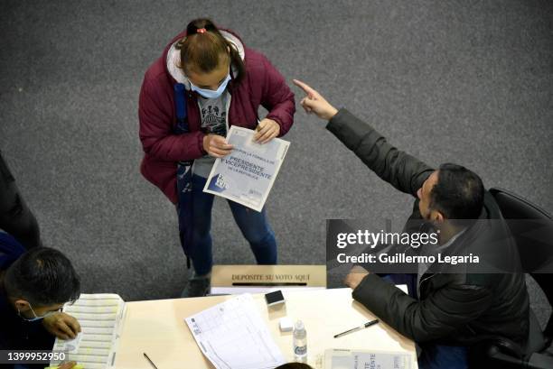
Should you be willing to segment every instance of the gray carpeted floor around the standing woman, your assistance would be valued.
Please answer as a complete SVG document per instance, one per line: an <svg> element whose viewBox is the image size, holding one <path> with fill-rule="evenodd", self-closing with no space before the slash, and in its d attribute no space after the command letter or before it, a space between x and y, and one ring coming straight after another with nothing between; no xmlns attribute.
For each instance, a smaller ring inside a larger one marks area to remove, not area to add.
<svg viewBox="0 0 553 369"><path fill-rule="evenodd" d="M2 1L0 148L84 291L144 300L183 288L173 206L138 172L137 96L165 43L202 15L398 147L553 212L551 2ZM408 215L410 199L323 127L298 111L286 136L267 206L280 263L323 263L326 218ZM224 201L213 223L216 263L253 263Z"/></svg>

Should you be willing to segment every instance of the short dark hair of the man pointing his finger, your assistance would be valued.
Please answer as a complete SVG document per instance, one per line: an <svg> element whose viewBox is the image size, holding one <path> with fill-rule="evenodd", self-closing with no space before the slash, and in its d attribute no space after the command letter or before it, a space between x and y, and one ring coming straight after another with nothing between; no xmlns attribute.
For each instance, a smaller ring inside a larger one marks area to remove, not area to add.
<svg viewBox="0 0 553 369"><path fill-rule="evenodd" d="M445 163L438 169L438 180L430 192L430 208L448 219L478 219L483 208L483 182L461 165Z"/></svg>

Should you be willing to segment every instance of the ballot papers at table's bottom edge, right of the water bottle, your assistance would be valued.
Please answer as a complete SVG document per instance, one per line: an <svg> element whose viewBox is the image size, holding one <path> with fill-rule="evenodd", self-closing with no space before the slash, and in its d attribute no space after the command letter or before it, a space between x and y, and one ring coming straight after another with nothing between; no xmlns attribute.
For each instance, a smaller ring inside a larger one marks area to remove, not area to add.
<svg viewBox="0 0 553 369"><path fill-rule="evenodd" d="M324 369L410 369L413 358L405 352L340 350L324 351Z"/></svg>

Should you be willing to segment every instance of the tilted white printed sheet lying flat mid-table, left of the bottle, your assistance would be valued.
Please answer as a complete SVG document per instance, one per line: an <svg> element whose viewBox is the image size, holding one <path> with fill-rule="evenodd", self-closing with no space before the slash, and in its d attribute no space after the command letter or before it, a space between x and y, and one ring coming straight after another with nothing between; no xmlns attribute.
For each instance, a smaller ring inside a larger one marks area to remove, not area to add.
<svg viewBox="0 0 553 369"><path fill-rule="evenodd" d="M203 355L217 369L272 369L285 364L248 293L184 320Z"/></svg>

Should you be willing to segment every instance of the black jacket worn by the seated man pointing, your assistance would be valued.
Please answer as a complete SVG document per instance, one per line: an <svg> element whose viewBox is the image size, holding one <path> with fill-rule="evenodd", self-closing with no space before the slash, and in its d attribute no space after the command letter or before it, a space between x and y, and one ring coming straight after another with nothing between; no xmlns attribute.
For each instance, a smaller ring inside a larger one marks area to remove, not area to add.
<svg viewBox="0 0 553 369"><path fill-rule="evenodd" d="M331 119L327 129L382 180L415 198L417 189L435 171L398 151L370 125L345 109ZM417 212L416 200L414 213ZM420 217L420 213L411 217ZM501 212L487 191L483 217L501 219ZM470 228L465 234L480 236ZM524 274L425 274L419 290L416 300L378 275L370 274L352 295L390 327L416 342L468 346L484 337L507 337L522 347L526 344L530 307Z"/></svg>

